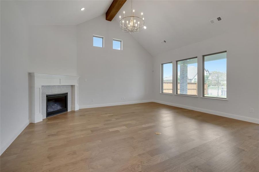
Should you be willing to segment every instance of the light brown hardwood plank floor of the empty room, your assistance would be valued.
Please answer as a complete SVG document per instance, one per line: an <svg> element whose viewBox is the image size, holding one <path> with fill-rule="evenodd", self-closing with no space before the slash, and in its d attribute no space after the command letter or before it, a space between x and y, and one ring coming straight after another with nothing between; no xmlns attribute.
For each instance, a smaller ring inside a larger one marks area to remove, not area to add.
<svg viewBox="0 0 259 172"><path fill-rule="evenodd" d="M81 109L29 124L0 161L1 172L258 172L259 125L159 103Z"/></svg>

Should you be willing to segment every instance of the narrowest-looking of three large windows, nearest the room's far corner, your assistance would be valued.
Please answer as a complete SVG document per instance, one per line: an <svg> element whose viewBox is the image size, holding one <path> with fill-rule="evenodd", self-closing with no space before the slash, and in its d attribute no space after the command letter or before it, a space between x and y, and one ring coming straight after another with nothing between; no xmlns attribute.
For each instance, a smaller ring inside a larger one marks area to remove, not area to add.
<svg viewBox="0 0 259 172"><path fill-rule="evenodd" d="M173 64L162 64L162 93L173 93Z"/></svg>

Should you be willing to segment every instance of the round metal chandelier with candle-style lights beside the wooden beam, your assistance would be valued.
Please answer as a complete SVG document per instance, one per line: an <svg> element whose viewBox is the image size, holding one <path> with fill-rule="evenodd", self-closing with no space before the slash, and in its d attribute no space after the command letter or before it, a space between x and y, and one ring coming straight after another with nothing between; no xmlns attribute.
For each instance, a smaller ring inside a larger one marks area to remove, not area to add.
<svg viewBox="0 0 259 172"><path fill-rule="evenodd" d="M120 28L123 32L139 32L147 27L144 26L144 17L141 13L141 17L134 15L135 10L132 10L132 0L131 0L131 16L125 17L125 11L123 11L123 17L120 16Z"/></svg>

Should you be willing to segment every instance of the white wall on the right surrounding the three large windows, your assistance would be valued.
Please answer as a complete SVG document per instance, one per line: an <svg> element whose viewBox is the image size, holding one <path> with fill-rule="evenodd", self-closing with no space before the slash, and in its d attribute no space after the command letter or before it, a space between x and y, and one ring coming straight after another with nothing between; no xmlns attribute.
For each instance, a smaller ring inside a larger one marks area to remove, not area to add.
<svg viewBox="0 0 259 172"><path fill-rule="evenodd" d="M227 50L227 101L201 98L202 55L225 50ZM176 60L195 56L198 57L198 97L161 94L161 63L173 61L175 69ZM154 57L153 65L154 99L157 102L259 122L258 23L241 27L232 33L164 52ZM254 113L250 113L250 108L254 108Z"/></svg>

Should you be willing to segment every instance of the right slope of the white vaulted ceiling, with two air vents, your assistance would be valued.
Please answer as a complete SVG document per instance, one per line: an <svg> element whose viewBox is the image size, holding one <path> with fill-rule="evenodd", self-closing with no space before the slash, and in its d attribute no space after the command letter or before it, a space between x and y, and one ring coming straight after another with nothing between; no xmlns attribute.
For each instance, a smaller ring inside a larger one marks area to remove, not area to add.
<svg viewBox="0 0 259 172"><path fill-rule="evenodd" d="M144 13L146 30L132 36L153 56L228 32L258 25L259 1L133 1L135 14ZM131 11L126 1L115 16ZM222 21L211 24L210 19ZM161 41L166 40L166 44Z"/></svg>

